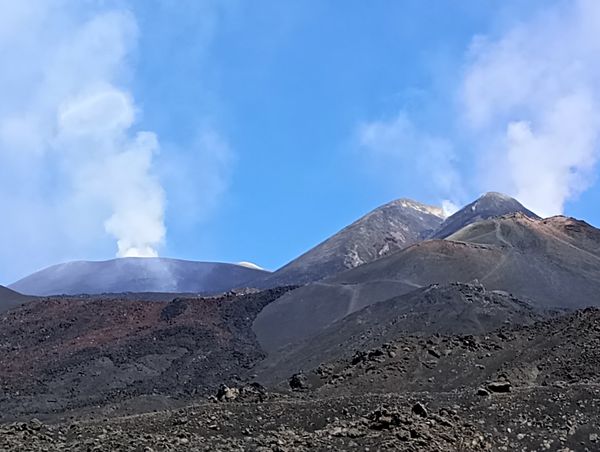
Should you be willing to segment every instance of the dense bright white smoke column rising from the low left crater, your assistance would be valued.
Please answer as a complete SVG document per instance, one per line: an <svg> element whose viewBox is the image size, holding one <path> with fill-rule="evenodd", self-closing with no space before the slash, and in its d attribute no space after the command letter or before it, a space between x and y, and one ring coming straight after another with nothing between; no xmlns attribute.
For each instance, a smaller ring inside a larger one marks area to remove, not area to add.
<svg viewBox="0 0 600 452"><path fill-rule="evenodd" d="M153 257L165 237L165 196L152 174L158 141L151 132L129 137L134 118L126 93L96 87L61 105L55 148L74 191L110 207L104 226L117 256Z"/></svg>

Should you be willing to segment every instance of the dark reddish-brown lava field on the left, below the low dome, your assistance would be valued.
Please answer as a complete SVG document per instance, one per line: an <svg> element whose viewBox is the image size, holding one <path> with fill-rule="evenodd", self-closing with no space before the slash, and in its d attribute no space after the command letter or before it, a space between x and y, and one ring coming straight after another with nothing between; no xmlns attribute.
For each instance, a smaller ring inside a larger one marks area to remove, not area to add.
<svg viewBox="0 0 600 452"><path fill-rule="evenodd" d="M252 320L286 290L168 303L47 298L6 312L0 421L94 407L139 412L245 378L265 356Z"/></svg>

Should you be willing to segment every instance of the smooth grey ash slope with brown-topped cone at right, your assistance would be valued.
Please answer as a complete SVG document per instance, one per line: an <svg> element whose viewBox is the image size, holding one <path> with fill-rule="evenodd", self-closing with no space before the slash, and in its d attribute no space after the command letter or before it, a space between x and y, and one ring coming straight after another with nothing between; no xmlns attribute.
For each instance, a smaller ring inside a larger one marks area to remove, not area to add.
<svg viewBox="0 0 600 452"><path fill-rule="evenodd" d="M254 322L269 352L312 337L370 304L430 284L478 280L547 308L600 304L600 231L565 217L485 220L296 289ZM272 328L278 325L278 328Z"/></svg>

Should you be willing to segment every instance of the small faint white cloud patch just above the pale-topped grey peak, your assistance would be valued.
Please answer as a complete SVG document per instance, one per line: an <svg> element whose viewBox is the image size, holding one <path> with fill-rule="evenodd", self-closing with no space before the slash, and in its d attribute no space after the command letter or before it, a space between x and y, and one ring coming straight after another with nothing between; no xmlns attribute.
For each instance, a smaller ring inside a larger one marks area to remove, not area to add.
<svg viewBox="0 0 600 452"><path fill-rule="evenodd" d="M358 139L367 160L387 177L419 184L446 206L463 200L452 144L420 130L405 112L362 124Z"/></svg>

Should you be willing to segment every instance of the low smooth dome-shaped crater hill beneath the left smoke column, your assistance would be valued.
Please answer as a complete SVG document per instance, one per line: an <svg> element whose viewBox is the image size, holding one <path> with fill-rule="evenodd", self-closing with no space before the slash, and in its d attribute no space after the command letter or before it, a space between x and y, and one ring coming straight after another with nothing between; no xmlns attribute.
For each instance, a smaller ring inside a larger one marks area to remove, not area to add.
<svg viewBox="0 0 600 452"><path fill-rule="evenodd" d="M268 272L242 265L166 258L68 262L10 285L38 296L122 292L218 293L249 285Z"/></svg>

